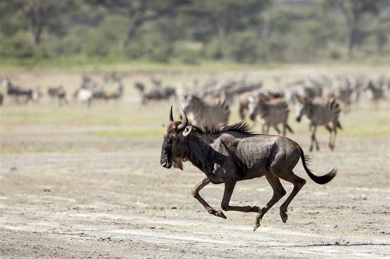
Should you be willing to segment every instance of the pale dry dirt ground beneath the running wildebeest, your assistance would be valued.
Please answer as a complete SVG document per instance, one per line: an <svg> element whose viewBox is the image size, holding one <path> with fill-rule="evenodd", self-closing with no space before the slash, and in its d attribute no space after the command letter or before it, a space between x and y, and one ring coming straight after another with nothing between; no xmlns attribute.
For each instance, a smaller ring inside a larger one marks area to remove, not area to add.
<svg viewBox="0 0 390 259"><path fill-rule="evenodd" d="M279 216L285 196L253 232L254 213L228 211L221 219L192 197L203 173L189 162L184 171L160 166L162 138L102 137L90 134L94 127L2 125L1 258L390 256L389 136L341 135L331 152L328 135L319 134L321 151L310 154L310 168L320 175L337 167L336 178L317 185L299 162L294 172L307 184L287 223ZM307 133L289 137L309 154ZM290 193L292 185L282 184ZM220 209L222 185L200 194ZM263 207L271 197L263 177L239 182L231 205Z"/></svg>

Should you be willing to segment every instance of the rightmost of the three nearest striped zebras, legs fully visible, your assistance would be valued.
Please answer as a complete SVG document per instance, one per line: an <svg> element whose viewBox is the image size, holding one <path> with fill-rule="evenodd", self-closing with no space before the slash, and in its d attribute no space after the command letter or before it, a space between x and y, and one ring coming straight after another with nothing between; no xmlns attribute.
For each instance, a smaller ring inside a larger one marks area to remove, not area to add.
<svg viewBox="0 0 390 259"><path fill-rule="evenodd" d="M330 132L329 147L334 149L337 128L342 129L338 117L340 115L340 105L334 98L324 99L320 103L313 103L309 99L299 99L295 104L297 114L296 121L301 121L303 115L310 121L310 130L312 131L312 141L310 143L310 151L313 150L313 143L319 150L317 139L315 138L315 131L317 126L325 126ZM332 127L329 124L332 122Z"/></svg>

